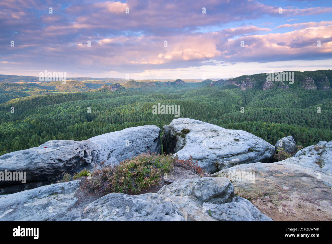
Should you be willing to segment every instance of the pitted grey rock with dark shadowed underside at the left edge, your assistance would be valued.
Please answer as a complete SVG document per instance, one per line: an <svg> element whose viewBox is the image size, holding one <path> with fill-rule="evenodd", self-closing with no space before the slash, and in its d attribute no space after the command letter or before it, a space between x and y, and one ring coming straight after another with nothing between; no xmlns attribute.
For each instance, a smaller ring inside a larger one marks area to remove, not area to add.
<svg viewBox="0 0 332 244"><path fill-rule="evenodd" d="M75 173L90 169L96 162L99 148L90 141L49 141L30 148L0 156L0 172L26 172L26 183L0 181L1 194L9 194L49 184L68 171ZM23 173L22 173L23 174Z"/></svg>

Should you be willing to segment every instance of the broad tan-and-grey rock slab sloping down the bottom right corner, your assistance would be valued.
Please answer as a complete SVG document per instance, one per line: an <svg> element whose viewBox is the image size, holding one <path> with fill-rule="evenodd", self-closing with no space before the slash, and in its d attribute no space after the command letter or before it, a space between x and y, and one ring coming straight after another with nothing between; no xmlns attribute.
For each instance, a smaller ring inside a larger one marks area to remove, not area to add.
<svg viewBox="0 0 332 244"><path fill-rule="evenodd" d="M250 173L254 178L246 178ZM275 163L250 163L223 169L239 196L274 220L332 220L332 141L298 151Z"/></svg>

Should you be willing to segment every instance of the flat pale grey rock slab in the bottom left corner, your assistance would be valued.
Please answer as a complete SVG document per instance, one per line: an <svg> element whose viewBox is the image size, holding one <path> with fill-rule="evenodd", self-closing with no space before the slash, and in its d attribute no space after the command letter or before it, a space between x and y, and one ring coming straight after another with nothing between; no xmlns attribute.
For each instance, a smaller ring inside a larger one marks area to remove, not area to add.
<svg viewBox="0 0 332 244"><path fill-rule="evenodd" d="M68 210L74 206L74 196L79 181L41 186L35 189L0 196L0 221L65 220ZM79 218L73 212L70 218Z"/></svg>

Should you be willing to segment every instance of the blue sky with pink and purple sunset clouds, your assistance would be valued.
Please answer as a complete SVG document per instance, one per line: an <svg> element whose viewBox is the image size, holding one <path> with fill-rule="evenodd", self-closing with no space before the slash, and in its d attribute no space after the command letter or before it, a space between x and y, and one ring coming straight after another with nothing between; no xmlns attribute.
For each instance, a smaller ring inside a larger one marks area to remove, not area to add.
<svg viewBox="0 0 332 244"><path fill-rule="evenodd" d="M0 74L143 80L332 69L331 16L328 0L5 0Z"/></svg>

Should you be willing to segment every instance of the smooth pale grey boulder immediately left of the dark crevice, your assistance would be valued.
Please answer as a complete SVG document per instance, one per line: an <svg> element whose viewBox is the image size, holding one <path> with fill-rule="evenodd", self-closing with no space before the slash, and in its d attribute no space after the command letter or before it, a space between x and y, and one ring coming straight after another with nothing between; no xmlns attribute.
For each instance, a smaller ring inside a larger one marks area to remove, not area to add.
<svg viewBox="0 0 332 244"><path fill-rule="evenodd" d="M98 163L118 164L141 153L161 154L160 128L145 125L126 128L88 139L99 146Z"/></svg>

